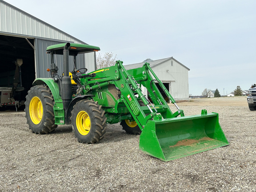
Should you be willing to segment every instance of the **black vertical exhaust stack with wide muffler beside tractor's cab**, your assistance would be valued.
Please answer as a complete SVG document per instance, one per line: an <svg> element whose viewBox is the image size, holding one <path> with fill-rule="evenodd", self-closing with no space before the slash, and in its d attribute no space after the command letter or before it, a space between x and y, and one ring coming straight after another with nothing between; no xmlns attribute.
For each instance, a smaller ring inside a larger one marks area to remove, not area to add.
<svg viewBox="0 0 256 192"><path fill-rule="evenodd" d="M61 99L62 99L63 108L65 109L65 111L68 109L68 105L72 100L72 84L71 84L71 78L69 77L69 72L68 72L69 46L70 46L70 43L67 43L65 44L63 49L64 76L62 77L62 82L61 82Z"/></svg>

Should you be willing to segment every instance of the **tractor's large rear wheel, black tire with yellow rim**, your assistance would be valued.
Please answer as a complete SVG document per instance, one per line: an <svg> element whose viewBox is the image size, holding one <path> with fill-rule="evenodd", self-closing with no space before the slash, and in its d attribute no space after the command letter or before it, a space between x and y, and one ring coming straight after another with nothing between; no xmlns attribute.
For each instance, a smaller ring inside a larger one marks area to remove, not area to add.
<svg viewBox="0 0 256 192"><path fill-rule="evenodd" d="M36 134L52 132L55 124L54 99L48 86L36 85L28 91L25 111L29 129Z"/></svg>

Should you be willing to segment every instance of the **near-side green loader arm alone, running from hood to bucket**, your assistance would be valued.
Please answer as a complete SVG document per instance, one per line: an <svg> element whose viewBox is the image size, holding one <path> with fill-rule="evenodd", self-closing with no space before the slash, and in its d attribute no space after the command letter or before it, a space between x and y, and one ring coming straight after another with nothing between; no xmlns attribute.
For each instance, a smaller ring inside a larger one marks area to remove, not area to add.
<svg viewBox="0 0 256 192"><path fill-rule="evenodd" d="M81 83L85 85L85 94L93 92L93 90L101 90L100 93L105 94L107 91L104 90L106 90L110 84L115 85L115 87L120 90L120 98L115 100L115 104L112 106L113 109L108 108L108 104L102 103L102 105L106 107L106 112L117 113L119 112L119 104L124 104L128 111L124 109L123 113L129 112L132 119L136 121L141 130L147 124L147 121L156 115L150 108L148 100L132 79L132 76L125 70L121 61L117 61L115 66L96 70L92 73L95 73L96 76L81 79ZM146 76L144 77L147 78ZM137 93L140 98L138 99L134 93ZM110 97L109 94L108 97ZM95 100L97 100L97 98L95 98ZM147 106L146 109L140 106L139 100L142 100ZM144 111L147 112L147 115ZM119 119L122 120L124 118L120 117Z"/></svg>

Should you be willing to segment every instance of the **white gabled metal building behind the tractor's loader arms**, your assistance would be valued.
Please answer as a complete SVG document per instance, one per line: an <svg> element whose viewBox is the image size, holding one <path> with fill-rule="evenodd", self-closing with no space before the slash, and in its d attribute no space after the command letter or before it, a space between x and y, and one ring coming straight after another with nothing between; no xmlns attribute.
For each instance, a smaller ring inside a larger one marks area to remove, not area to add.
<svg viewBox="0 0 256 192"><path fill-rule="evenodd" d="M160 60L147 59L141 63L124 65L128 69L139 68L148 62L156 76L162 81L176 101L188 101L188 71L184 64L173 57ZM145 93L145 91L144 91ZM146 94L146 93L145 93Z"/></svg>

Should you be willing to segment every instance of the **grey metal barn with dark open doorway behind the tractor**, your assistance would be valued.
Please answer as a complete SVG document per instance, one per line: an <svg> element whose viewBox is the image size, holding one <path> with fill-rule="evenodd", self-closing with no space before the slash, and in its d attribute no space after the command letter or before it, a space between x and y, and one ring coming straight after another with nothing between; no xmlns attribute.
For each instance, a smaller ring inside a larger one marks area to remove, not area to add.
<svg viewBox="0 0 256 192"><path fill-rule="evenodd" d="M46 48L65 42L86 44L0 0L0 106L24 100L35 78L50 77L46 69L51 59ZM56 64L63 64L61 56L55 59ZM62 72L63 66L58 67ZM77 68L84 67L89 72L96 69L95 53L77 56Z"/></svg>

